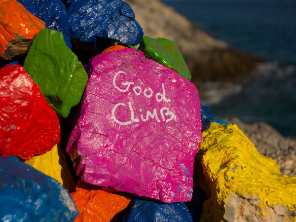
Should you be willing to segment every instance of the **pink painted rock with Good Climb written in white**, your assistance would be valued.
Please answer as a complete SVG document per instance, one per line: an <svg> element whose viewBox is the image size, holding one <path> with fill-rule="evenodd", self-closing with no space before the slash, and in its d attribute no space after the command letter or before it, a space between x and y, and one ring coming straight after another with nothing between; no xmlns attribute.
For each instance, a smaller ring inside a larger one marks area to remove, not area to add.
<svg viewBox="0 0 296 222"><path fill-rule="evenodd" d="M93 57L67 151L87 183L189 201L201 142L194 84L132 48Z"/></svg>

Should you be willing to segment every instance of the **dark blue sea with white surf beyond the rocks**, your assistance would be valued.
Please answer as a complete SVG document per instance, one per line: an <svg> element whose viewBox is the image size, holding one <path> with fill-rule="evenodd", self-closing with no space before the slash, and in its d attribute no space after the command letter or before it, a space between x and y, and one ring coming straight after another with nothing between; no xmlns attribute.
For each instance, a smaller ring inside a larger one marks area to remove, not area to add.
<svg viewBox="0 0 296 222"><path fill-rule="evenodd" d="M218 118L266 122L296 136L296 0L162 0L212 37L258 55L259 76L205 82L201 103Z"/></svg>

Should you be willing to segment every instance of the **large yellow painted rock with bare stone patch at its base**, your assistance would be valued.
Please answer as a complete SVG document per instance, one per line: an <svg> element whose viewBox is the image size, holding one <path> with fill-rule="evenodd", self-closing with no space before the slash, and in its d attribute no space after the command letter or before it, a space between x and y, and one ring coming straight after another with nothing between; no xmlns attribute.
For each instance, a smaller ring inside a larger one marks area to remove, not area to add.
<svg viewBox="0 0 296 222"><path fill-rule="evenodd" d="M200 221L296 220L296 177L281 174L235 124L212 122L195 162L194 176L210 197Z"/></svg>

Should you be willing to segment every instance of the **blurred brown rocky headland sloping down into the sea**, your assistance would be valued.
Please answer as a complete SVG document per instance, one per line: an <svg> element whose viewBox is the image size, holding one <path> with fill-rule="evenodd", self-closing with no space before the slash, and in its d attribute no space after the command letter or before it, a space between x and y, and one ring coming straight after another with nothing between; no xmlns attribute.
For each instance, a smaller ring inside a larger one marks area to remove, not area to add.
<svg viewBox="0 0 296 222"><path fill-rule="evenodd" d="M145 36L164 37L177 44L194 83L243 78L251 74L257 62L262 61L208 36L158 0L125 1L134 10Z"/></svg>

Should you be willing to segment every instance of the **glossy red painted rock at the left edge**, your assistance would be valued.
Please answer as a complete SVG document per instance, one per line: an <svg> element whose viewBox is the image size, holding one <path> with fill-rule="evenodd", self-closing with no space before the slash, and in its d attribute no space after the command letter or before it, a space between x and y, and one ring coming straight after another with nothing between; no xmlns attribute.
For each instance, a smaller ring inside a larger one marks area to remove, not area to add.
<svg viewBox="0 0 296 222"><path fill-rule="evenodd" d="M19 65L0 69L0 154L31 159L60 141L57 114Z"/></svg>

